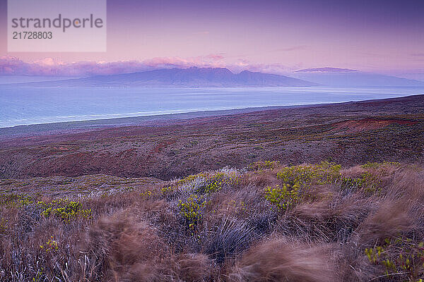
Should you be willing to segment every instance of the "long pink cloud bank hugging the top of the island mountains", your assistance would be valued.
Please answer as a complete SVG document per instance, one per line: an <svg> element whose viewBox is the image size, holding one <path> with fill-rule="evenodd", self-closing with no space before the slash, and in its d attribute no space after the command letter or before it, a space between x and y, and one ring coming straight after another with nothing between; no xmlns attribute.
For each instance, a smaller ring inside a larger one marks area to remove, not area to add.
<svg viewBox="0 0 424 282"><path fill-rule="evenodd" d="M290 73L301 66L288 68L279 63L258 64L240 59L226 63L223 54L209 54L191 58L158 57L146 61L79 61L66 63L57 59L46 58L39 61L24 62L16 57L0 57L0 75L44 75L88 77L93 75L112 75L117 73L134 73L158 68L229 68L230 71L259 71L263 73Z"/></svg>

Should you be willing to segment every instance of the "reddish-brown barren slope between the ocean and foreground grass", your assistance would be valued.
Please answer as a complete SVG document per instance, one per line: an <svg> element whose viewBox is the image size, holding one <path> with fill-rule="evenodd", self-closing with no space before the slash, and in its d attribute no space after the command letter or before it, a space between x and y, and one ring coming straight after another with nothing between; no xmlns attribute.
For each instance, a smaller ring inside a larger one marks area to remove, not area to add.
<svg viewBox="0 0 424 282"><path fill-rule="evenodd" d="M253 161L423 163L424 96L0 140L0 178L169 179Z"/></svg>

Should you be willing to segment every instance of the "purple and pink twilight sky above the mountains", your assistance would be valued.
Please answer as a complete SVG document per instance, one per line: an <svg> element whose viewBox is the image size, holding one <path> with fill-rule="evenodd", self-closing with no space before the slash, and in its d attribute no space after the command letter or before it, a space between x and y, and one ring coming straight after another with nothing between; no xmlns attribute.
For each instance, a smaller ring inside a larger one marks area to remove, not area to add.
<svg viewBox="0 0 424 282"><path fill-rule="evenodd" d="M423 15L423 0L108 0L107 52L8 53L0 0L0 73L46 74L46 66L47 74L88 66L94 73L160 66L424 73ZM131 62L72 64L81 61Z"/></svg>

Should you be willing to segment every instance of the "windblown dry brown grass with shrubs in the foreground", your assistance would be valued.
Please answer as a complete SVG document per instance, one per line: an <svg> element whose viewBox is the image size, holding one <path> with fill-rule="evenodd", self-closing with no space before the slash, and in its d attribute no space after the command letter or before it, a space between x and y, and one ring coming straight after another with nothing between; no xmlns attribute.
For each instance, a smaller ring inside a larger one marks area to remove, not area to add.
<svg viewBox="0 0 424 282"><path fill-rule="evenodd" d="M266 187L285 184L278 163L223 168L128 192L74 194L69 199L78 202L76 212L61 210L66 216L43 212L57 200L54 193L4 193L0 281L423 278L423 168L336 167L325 178L329 164L304 167L314 173L302 176L286 209L264 197Z"/></svg>

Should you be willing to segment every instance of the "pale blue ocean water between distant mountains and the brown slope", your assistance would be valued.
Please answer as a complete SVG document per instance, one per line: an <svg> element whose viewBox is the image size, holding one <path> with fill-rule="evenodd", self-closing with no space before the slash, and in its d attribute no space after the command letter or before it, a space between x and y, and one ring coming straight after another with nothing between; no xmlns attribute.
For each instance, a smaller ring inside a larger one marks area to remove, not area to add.
<svg viewBox="0 0 424 282"><path fill-rule="evenodd" d="M292 106L424 94L382 87L28 87L0 85L0 128L260 106Z"/></svg>

